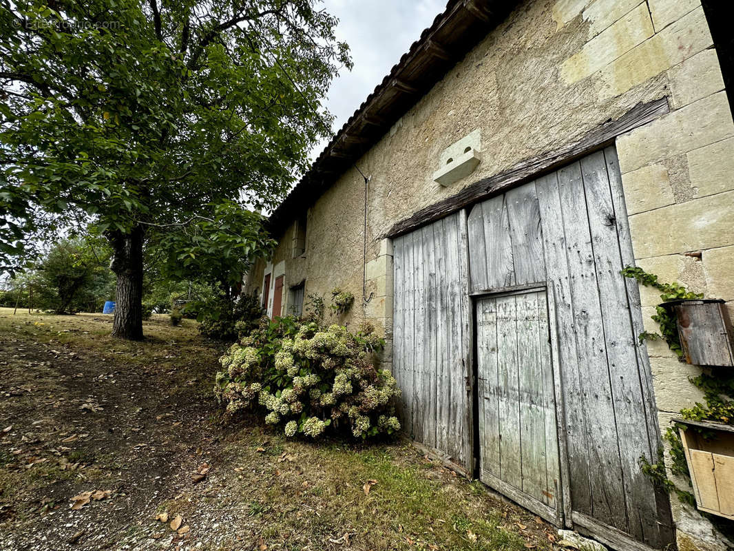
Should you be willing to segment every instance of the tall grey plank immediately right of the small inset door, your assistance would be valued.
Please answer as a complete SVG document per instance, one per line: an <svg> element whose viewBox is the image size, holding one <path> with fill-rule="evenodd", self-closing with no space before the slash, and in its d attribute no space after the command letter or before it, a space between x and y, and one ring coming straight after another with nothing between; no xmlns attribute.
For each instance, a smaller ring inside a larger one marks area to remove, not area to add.
<svg viewBox="0 0 734 551"><path fill-rule="evenodd" d="M541 213L543 250L548 272L548 292L553 296L556 326L556 348L559 358L556 401L562 404L562 426L566 452L562 460L569 472L564 480L568 489L564 500L564 513L570 519L573 510L592 516L591 482L589 478L589 430L586 427L588 406L581 389L579 356L576 345L574 305L571 295L570 274L567 259L567 241L563 227L558 173L552 173L536 181L538 204ZM595 467L597 468L597 467Z"/></svg>

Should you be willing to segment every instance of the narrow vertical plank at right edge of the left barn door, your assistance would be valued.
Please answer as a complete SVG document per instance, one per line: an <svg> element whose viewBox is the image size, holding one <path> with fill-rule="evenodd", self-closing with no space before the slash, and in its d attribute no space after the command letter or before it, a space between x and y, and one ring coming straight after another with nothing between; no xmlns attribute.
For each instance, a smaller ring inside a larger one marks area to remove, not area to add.
<svg viewBox="0 0 734 551"><path fill-rule="evenodd" d="M474 466L474 411L473 411L473 316L471 299L469 298L469 236L467 227L467 213L461 210L457 213L459 226L459 299L461 300L461 357L462 375L464 378L463 418L464 425L464 465L469 472Z"/></svg>

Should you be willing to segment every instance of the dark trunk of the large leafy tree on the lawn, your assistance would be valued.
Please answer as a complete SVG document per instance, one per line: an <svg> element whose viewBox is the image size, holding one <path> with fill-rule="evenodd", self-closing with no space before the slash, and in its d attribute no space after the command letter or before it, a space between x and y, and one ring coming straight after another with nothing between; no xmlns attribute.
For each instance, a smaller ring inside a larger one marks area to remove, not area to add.
<svg viewBox="0 0 734 551"><path fill-rule="evenodd" d="M109 236L112 245L110 268L117 275L115 320L112 336L142 340L142 243L140 226L129 234L115 232Z"/></svg>

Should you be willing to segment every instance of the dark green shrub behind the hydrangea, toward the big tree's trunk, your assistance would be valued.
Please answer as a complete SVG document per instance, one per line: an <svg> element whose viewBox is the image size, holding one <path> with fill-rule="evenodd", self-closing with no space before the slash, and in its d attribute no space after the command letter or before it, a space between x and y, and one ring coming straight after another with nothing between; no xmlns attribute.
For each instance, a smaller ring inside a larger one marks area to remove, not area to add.
<svg viewBox="0 0 734 551"><path fill-rule="evenodd" d="M234 342L258 327L265 311L260 300L242 295L237 300L218 299L199 311L199 332L209 339Z"/></svg>

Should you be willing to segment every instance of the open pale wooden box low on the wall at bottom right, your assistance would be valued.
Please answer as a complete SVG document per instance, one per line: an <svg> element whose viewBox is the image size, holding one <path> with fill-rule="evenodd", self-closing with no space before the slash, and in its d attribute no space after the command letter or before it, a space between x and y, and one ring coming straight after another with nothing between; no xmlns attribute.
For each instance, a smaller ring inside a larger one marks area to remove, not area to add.
<svg viewBox="0 0 734 551"><path fill-rule="evenodd" d="M734 519L734 426L675 419L700 511ZM697 429L713 434L704 438Z"/></svg>

